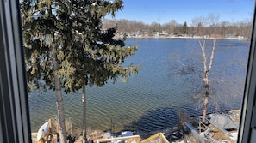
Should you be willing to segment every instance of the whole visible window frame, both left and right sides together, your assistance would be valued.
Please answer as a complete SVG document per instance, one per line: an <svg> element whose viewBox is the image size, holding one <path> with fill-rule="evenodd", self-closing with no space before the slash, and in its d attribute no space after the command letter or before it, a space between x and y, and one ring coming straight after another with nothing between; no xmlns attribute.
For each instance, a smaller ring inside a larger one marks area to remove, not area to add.
<svg viewBox="0 0 256 143"><path fill-rule="evenodd" d="M247 63L247 78L237 142L256 142L256 21ZM0 1L0 142L30 143L28 92L22 47L19 1Z"/></svg>

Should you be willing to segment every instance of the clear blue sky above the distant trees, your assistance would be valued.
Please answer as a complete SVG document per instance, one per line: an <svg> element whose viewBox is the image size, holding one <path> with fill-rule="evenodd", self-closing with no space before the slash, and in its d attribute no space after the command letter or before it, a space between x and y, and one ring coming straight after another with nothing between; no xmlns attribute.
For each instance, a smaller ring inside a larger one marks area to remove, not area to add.
<svg viewBox="0 0 256 143"><path fill-rule="evenodd" d="M253 19L254 0L123 0L124 8L116 19L167 23L175 20L189 25L196 16L219 15L219 21Z"/></svg>

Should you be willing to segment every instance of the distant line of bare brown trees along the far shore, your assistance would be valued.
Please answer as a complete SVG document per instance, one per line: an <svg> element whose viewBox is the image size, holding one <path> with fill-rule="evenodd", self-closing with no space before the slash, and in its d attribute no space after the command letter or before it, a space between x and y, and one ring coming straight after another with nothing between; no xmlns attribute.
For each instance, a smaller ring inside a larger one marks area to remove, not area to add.
<svg viewBox="0 0 256 143"><path fill-rule="evenodd" d="M252 20L245 21L219 21L218 15L200 16L192 19L190 26L187 22L180 24L171 20L165 24L153 22L145 24L141 21L130 20L103 20L103 28L117 27L119 33L165 33L168 35L210 36L219 38L243 37L250 38Z"/></svg>

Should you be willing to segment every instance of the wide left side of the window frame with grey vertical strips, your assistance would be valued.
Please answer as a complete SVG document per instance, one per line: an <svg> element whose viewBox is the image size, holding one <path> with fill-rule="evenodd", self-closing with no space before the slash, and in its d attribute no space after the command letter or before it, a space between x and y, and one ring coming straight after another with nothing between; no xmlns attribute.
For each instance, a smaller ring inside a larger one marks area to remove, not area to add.
<svg viewBox="0 0 256 143"><path fill-rule="evenodd" d="M31 143L19 1L0 1L0 142Z"/></svg>

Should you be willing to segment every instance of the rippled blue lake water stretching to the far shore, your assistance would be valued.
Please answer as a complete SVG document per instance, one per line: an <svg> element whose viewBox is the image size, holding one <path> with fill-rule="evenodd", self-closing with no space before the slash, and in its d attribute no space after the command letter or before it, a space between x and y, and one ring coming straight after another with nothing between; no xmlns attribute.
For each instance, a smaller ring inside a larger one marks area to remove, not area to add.
<svg viewBox="0 0 256 143"><path fill-rule="evenodd" d="M198 104L193 98L193 92L190 92L197 89L195 84L182 77L173 78L174 75L170 74L173 53L183 55L182 59L198 59L197 55L202 55L198 39L127 39L126 43L138 44L139 49L124 64L140 64L141 69L138 74L128 77L126 83L122 83L120 78L116 84L109 80L103 87L87 86L88 128L103 131L110 129L113 124L112 129L117 132L135 122L138 130L150 132L176 126L179 110L185 110L190 116L202 113L203 104ZM231 110L241 106L248 47L248 41L217 40L212 77L222 74L224 80L240 81L233 86L225 86L232 88L232 91L240 91L221 96L226 102L215 98L218 110ZM186 62L189 61L191 60ZM187 82L186 86L184 82ZM81 92L63 93L65 116L72 119L73 131L82 128ZM57 115L55 92L35 91L28 96L31 128L36 132L43 122ZM209 104L209 111L215 109L215 104Z"/></svg>

